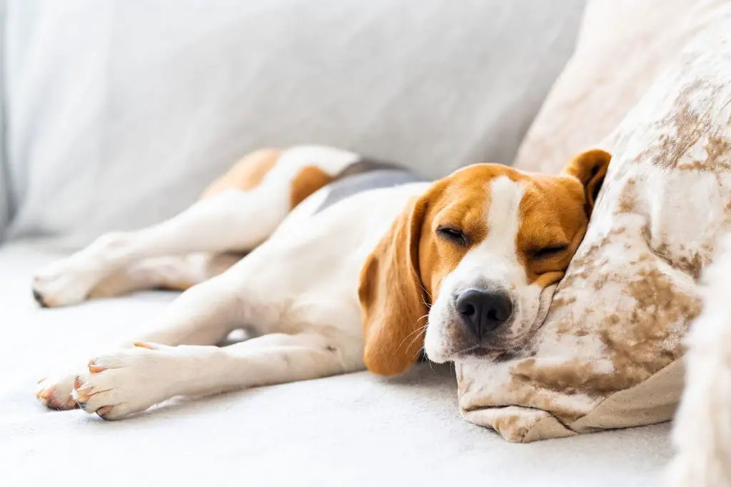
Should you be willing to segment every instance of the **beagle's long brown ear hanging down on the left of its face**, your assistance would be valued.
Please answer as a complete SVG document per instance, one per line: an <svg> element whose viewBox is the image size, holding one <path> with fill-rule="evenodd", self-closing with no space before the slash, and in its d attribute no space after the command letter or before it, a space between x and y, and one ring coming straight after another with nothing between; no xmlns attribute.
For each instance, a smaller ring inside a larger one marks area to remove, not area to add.
<svg viewBox="0 0 731 487"><path fill-rule="evenodd" d="M396 217L360 271L363 360L371 372L396 375L409 369L423 346L428 309L419 273L419 240L425 198Z"/></svg>

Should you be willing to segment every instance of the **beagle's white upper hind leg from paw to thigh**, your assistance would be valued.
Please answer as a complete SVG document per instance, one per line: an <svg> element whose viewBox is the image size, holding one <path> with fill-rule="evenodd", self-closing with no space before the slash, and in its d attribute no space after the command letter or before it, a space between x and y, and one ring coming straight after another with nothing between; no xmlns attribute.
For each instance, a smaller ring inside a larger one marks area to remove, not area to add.
<svg viewBox="0 0 731 487"><path fill-rule="evenodd" d="M50 306L80 303L107 276L145 259L251 249L276 229L288 211L289 192L258 188L223 192L152 227L102 235L41 271L34 289Z"/></svg>

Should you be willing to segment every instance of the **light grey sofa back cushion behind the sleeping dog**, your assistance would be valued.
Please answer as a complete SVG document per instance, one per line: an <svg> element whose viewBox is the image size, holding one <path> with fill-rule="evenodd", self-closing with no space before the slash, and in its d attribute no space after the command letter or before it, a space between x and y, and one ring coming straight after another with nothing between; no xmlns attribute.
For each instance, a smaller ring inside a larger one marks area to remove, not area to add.
<svg viewBox="0 0 731 487"><path fill-rule="evenodd" d="M585 1L7 3L10 235L76 246L172 216L262 146L432 177L510 162Z"/></svg>

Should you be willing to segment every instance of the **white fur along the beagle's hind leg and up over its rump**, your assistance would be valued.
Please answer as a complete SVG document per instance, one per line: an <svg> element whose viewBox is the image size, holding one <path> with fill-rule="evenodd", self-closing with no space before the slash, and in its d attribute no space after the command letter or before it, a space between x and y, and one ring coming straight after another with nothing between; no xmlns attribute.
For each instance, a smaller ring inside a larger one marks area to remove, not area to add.
<svg viewBox="0 0 731 487"><path fill-rule="evenodd" d="M145 259L191 252L212 256L253 249L287 218L290 184L303 167L317 165L326 173L336 175L357 158L352 152L325 146L289 148L282 152L262 183L251 191L223 192L195 203L161 224L137 232L103 235L81 252L39 273L34 289L51 306L67 306L88 298L97 284L111 273L139 266ZM163 277L160 273L164 269L159 264L143 264L143 268L156 268L148 276L127 269L130 276L126 279L126 287L129 290L154 287ZM202 277L195 282L208 278L208 264L196 265L199 269L187 271Z"/></svg>

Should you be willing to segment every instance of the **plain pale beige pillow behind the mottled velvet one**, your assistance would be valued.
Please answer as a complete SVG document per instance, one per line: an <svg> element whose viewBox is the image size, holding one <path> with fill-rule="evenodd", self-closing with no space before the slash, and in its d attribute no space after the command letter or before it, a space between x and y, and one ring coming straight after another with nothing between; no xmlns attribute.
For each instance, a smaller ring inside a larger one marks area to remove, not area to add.
<svg viewBox="0 0 731 487"><path fill-rule="evenodd" d="M515 159L523 170L558 173L601 142L659 72L700 31L728 16L728 0L591 0L577 48Z"/></svg>

